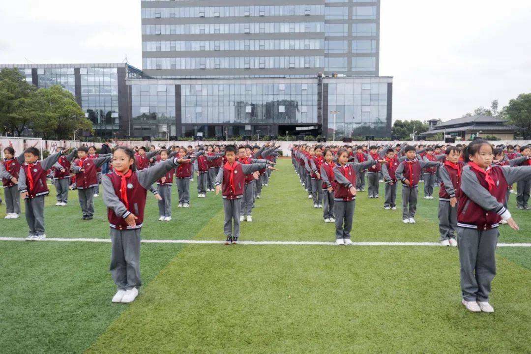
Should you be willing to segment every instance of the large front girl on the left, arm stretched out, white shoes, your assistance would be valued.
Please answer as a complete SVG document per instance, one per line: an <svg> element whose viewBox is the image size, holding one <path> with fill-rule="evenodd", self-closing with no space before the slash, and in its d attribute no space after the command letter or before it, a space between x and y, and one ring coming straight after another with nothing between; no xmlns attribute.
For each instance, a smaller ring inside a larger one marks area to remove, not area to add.
<svg viewBox="0 0 531 354"><path fill-rule="evenodd" d="M147 189L184 162L189 160L167 159L139 171L133 150L119 147L114 151L114 171L101 179L112 243L110 274L118 288L113 303L131 303L141 286L140 230Z"/></svg>

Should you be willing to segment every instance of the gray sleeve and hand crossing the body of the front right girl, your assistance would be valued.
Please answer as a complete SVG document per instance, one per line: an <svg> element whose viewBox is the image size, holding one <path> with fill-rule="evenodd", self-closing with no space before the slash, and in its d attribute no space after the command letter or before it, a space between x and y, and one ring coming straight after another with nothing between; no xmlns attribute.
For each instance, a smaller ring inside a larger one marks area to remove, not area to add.
<svg viewBox="0 0 531 354"><path fill-rule="evenodd" d="M510 169L510 167L507 167ZM531 169L529 170L531 172ZM465 193L470 200L481 206L486 211L492 211L500 215L503 220L511 217L511 213L477 180L476 174L465 166L461 172L461 192Z"/></svg>

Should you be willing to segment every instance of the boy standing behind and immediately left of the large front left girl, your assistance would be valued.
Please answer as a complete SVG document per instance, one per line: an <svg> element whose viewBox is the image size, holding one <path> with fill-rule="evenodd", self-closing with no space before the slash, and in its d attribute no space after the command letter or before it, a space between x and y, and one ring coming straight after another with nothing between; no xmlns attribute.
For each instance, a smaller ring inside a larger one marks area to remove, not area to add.
<svg viewBox="0 0 531 354"><path fill-rule="evenodd" d="M74 160L74 163L70 166L70 170L76 175L75 185L78 188L79 204L83 213L81 220L92 220L94 215L94 188L98 185L96 170L112 158L109 155L90 159L88 152L87 146L78 148L78 159Z"/></svg>

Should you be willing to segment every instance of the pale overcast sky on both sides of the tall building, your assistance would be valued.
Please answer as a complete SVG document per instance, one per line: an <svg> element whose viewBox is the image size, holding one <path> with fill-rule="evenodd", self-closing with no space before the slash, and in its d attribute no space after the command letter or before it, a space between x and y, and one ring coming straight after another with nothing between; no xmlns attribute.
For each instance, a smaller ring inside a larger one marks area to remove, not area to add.
<svg viewBox="0 0 531 354"><path fill-rule="evenodd" d="M531 92L529 0L382 0L393 120L458 118ZM142 67L140 1L1 1L0 64Z"/></svg>

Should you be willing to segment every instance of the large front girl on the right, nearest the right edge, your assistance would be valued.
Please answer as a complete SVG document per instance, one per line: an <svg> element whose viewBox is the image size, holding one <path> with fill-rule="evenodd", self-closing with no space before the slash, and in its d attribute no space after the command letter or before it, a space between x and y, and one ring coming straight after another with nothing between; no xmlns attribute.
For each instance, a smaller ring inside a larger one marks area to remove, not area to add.
<svg viewBox="0 0 531 354"><path fill-rule="evenodd" d="M457 209L457 241L461 265L461 292L472 312L494 312L489 304L491 282L496 274L495 250L500 220L518 230L503 205L507 188L531 178L531 167L492 165L492 146L475 140L465 149L466 166L461 173L461 197Z"/></svg>

